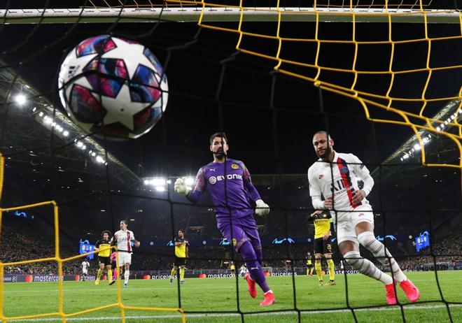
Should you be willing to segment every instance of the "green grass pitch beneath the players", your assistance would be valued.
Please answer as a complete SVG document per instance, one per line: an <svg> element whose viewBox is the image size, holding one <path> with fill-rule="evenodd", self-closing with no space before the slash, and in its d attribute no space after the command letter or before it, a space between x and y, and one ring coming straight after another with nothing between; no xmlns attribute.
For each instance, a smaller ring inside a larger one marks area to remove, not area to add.
<svg viewBox="0 0 462 323"><path fill-rule="evenodd" d="M421 299L409 304L398 287L400 306L386 306L385 290L380 282L363 275L348 275L348 296L351 308L377 306L370 309L354 310L358 322L402 322L404 314L406 322L450 322L447 308L441 302L434 272L407 273L421 291ZM451 305L453 322L462 322L462 271L438 272L441 292L444 299L459 303ZM291 276L268 278L269 286L276 295L273 306L262 308L258 305L262 293L251 299L247 293L246 282L239 278L239 299L235 278L190 278L181 288L181 307L186 311L186 322L194 323L239 323L241 316L235 312L241 310L245 314L244 322L248 323L282 323L298 322L295 308L301 310L301 322L354 322L351 310L346 308L345 278L337 275L337 285L318 287L317 278L295 276L295 291ZM325 275L325 280L328 276ZM179 285L169 280L130 280L127 289L121 289L125 306L140 307L179 307ZM116 303L117 285L109 286L102 281L64 282L64 313L105 304ZM57 282L31 282L4 284L3 315L7 317L34 315L58 311ZM238 305L239 303L239 305ZM328 311L322 311L329 309ZM337 309L337 310L335 310ZM274 311L261 313L263 311ZM203 312L203 313L190 313ZM221 313L211 313L221 312ZM177 312L153 310L126 310L126 322L181 322ZM8 321L10 322L10 321ZM20 322L61 322L59 317L42 317ZM108 308L92 313L68 318L66 322L121 322L120 308Z"/></svg>

